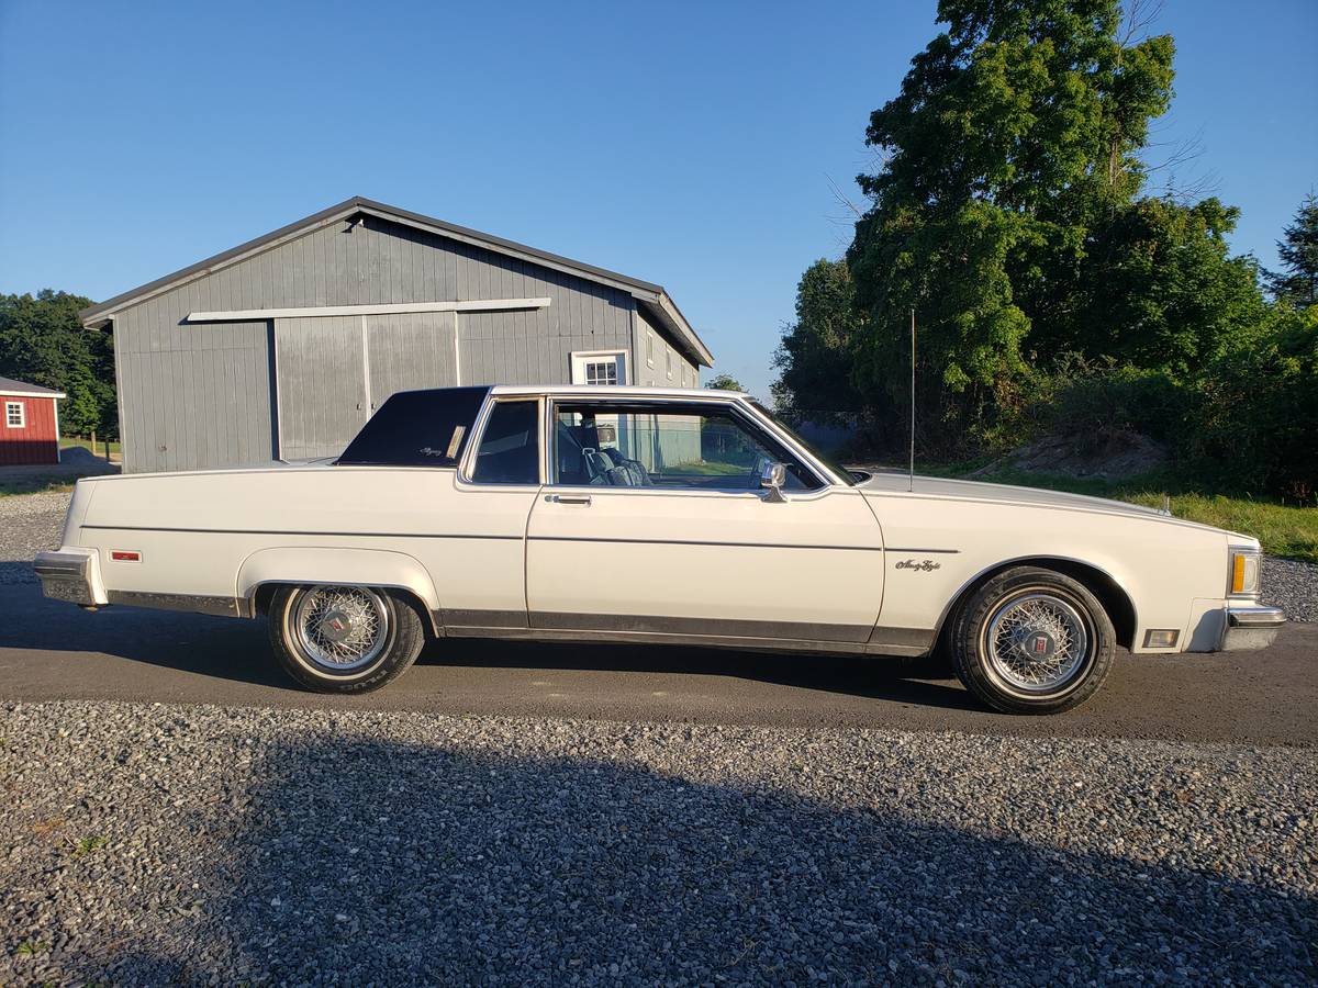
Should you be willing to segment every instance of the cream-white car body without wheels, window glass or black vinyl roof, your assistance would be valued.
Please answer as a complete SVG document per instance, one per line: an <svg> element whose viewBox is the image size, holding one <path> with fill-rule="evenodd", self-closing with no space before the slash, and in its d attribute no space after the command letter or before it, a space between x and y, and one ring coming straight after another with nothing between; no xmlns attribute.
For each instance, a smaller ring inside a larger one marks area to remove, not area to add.
<svg viewBox="0 0 1318 988"><path fill-rule="evenodd" d="M554 403L596 395L733 410L818 487L555 486ZM535 482L472 482L494 403L529 398L540 416ZM84 606L252 615L272 584L357 584L407 591L438 634L921 655L977 581L1054 561L1116 588L1135 651L1259 647L1284 620L1227 591L1230 551L1256 552L1252 539L1048 491L891 477L853 486L735 394L496 387L461 428L456 465L80 481L63 548L38 556L37 572L49 595ZM1176 640L1148 648L1148 631Z"/></svg>

